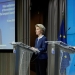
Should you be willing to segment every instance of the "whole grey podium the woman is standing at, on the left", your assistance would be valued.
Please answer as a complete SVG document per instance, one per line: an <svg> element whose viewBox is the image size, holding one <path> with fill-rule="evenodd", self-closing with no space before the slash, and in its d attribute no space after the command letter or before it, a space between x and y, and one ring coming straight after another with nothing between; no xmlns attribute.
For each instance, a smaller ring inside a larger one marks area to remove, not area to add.
<svg viewBox="0 0 75 75"><path fill-rule="evenodd" d="M16 51L15 75L30 75L30 59L33 52L39 52L39 50L32 50L30 46L21 42L11 44L13 51Z"/></svg>

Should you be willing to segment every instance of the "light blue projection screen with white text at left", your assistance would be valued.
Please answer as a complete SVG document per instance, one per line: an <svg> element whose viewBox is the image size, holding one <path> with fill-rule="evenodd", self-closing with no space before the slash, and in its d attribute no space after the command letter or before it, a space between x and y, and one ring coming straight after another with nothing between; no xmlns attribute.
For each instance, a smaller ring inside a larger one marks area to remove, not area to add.
<svg viewBox="0 0 75 75"><path fill-rule="evenodd" d="M12 49L15 41L15 1L0 0L0 49Z"/></svg>

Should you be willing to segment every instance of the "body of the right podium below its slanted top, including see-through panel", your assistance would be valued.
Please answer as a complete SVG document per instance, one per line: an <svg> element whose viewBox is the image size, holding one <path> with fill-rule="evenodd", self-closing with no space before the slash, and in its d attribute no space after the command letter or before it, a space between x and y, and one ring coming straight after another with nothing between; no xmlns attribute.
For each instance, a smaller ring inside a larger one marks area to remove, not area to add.
<svg viewBox="0 0 75 75"><path fill-rule="evenodd" d="M69 75L69 71L72 69L70 55L74 54L75 51L68 51L61 48L57 44L49 45L48 50L48 75ZM70 74L75 75L75 74Z"/></svg>

